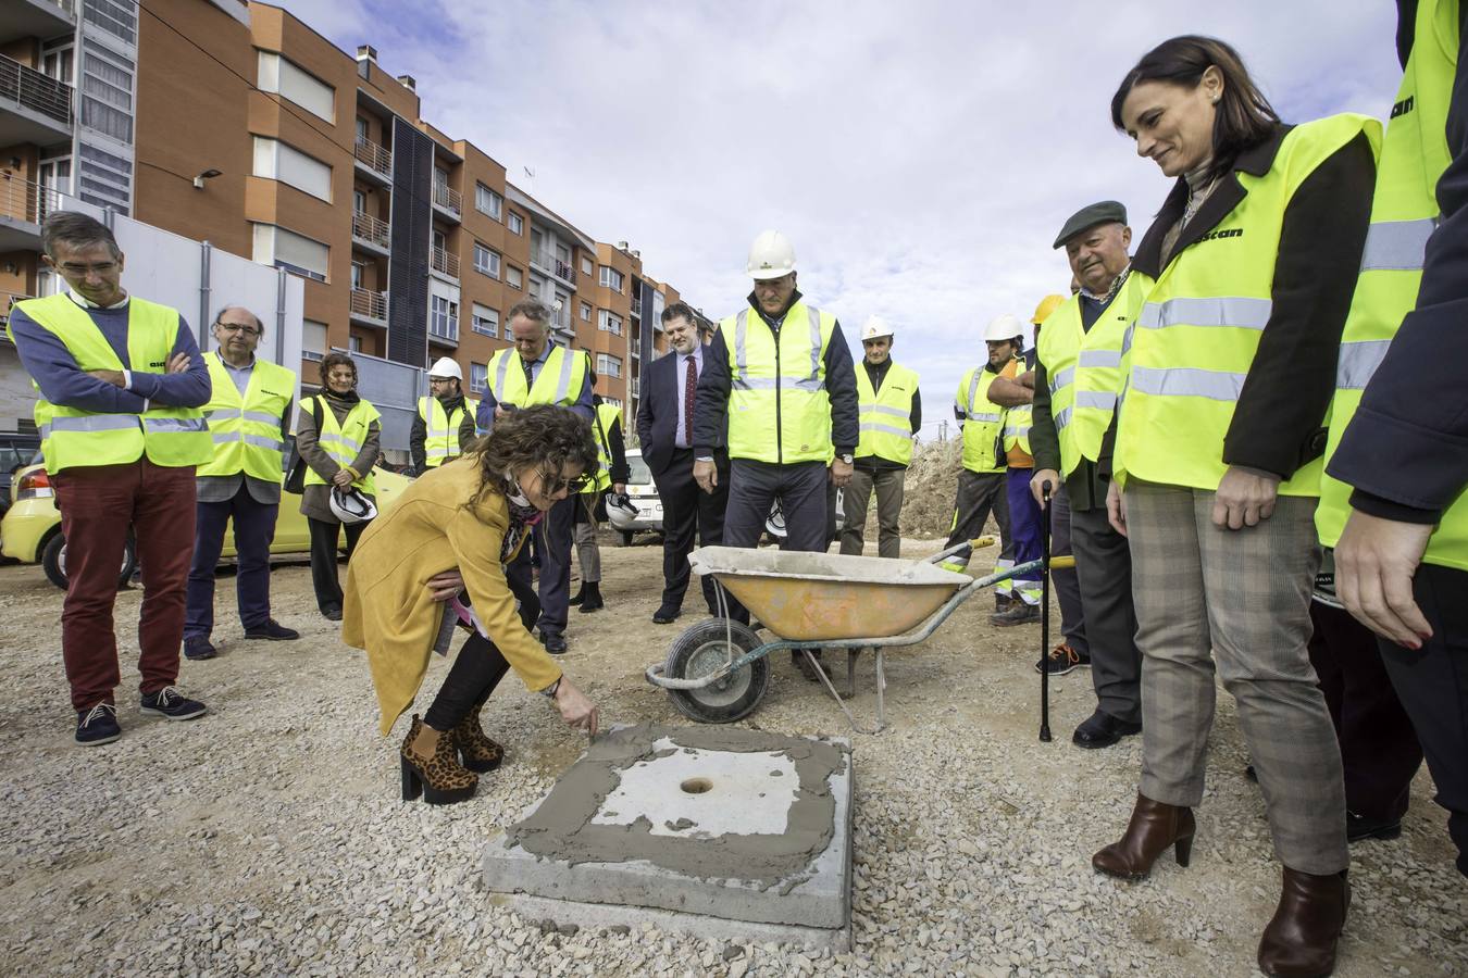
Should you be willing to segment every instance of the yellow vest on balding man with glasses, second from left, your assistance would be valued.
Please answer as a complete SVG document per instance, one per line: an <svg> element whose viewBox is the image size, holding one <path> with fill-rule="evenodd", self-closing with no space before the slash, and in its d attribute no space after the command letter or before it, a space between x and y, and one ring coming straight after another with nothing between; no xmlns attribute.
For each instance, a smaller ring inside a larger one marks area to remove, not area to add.
<svg viewBox="0 0 1468 978"><path fill-rule="evenodd" d="M244 396L217 352L204 353L211 391L204 418L214 440L214 457L198 475L244 472L266 482L283 478L285 434L280 418L295 397L295 371L257 359Z"/></svg>

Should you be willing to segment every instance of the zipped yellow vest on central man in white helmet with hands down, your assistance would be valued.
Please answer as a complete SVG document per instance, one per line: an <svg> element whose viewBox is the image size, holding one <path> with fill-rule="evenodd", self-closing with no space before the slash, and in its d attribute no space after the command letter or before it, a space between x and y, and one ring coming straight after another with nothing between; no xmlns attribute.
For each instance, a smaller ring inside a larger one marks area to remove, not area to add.
<svg viewBox="0 0 1468 978"><path fill-rule="evenodd" d="M785 312L777 342L746 306L719 323L728 350L731 459L788 465L831 462L831 397L825 352L835 317L804 302Z"/></svg>

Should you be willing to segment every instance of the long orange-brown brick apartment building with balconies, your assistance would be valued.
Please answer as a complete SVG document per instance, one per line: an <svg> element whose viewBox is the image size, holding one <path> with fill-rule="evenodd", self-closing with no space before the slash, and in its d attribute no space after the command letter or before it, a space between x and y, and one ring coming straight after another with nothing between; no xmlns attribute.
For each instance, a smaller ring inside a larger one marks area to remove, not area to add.
<svg viewBox="0 0 1468 978"><path fill-rule="evenodd" d="M56 289L38 224L59 191L302 276L308 387L341 348L452 356L482 390L505 312L539 298L630 415L677 289L420 107L371 47L348 54L282 7L0 0L0 312ZM0 342L0 393L23 386Z"/></svg>

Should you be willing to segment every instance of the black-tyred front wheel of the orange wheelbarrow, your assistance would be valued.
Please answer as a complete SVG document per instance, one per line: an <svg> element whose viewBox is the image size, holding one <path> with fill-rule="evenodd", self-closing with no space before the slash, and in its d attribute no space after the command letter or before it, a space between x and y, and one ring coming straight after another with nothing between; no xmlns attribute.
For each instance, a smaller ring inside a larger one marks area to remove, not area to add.
<svg viewBox="0 0 1468 978"><path fill-rule="evenodd" d="M718 672L734 655L743 655L762 645L747 625L706 619L683 630L668 647L664 676L669 679L702 679ZM769 688L769 660L756 658L724 679L703 689L669 689L678 713L699 723L734 723L755 711Z"/></svg>

